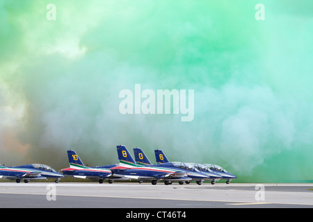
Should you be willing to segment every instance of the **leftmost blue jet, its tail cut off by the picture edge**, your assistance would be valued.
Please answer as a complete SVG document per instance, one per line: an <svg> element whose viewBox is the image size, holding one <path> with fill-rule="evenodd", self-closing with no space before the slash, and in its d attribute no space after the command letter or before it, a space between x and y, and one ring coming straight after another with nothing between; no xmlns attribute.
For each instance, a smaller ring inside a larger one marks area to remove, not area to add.
<svg viewBox="0 0 313 222"><path fill-rule="evenodd" d="M56 178L55 182L58 182L63 177L62 173L58 173L45 164L26 164L17 167L0 166L0 178L15 180L17 183L22 180L27 183L30 180L45 180L47 178Z"/></svg>

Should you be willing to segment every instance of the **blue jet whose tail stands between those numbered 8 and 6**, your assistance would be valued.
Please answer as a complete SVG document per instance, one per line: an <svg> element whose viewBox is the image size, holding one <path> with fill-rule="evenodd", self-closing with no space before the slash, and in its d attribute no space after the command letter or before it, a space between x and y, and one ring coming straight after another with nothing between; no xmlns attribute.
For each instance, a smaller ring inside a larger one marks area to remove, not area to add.
<svg viewBox="0 0 313 222"><path fill-rule="evenodd" d="M167 165L170 167L177 168L179 170L183 170L186 172L186 175L188 176L188 178L195 180L198 185L201 185L203 180L214 180L214 178L220 177L214 173L211 173L211 174L202 173L198 169L195 169L195 167L193 167L191 164L186 164L184 162L168 162L165 164L152 165L150 160L147 158L145 153L143 153L143 150L141 148L134 148L134 154L135 154L135 160L137 164L144 164L144 165L150 165L150 166L156 166L156 167L159 167L160 165ZM189 183L190 180L185 181L185 182ZM184 181L179 181L180 185L182 185L183 183Z"/></svg>

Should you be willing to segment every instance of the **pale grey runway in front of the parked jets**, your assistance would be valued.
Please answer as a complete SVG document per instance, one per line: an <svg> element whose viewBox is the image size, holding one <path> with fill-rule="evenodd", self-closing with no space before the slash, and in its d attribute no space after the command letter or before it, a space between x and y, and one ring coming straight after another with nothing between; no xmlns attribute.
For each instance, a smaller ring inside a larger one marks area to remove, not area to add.
<svg viewBox="0 0 313 222"><path fill-rule="evenodd" d="M313 184L1 182L0 207L313 208Z"/></svg>

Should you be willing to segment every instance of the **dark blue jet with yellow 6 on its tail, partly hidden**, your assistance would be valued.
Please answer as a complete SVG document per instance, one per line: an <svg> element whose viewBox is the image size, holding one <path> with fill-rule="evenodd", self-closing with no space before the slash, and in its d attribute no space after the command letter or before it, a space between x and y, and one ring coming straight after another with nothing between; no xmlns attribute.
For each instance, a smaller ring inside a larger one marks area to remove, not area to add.
<svg viewBox="0 0 313 222"><path fill-rule="evenodd" d="M158 164L170 162L162 150L159 150L159 149L154 150L154 154L155 154ZM210 176L209 181L211 181L212 185L214 185L216 181L220 179L225 179L225 175L220 175L220 172L212 171L207 166L205 166L205 164L197 164L197 163L188 163L188 164L195 167L195 169L198 169L200 172L205 173L208 176Z"/></svg>

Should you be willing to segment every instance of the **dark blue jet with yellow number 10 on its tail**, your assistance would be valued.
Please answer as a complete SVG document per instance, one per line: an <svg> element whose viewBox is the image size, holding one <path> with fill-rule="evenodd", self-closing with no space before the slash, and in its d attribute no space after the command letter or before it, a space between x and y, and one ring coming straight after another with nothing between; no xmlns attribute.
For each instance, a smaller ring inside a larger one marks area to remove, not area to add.
<svg viewBox="0 0 313 222"><path fill-rule="evenodd" d="M68 161L70 167L62 169L65 176L72 176L74 178L83 178L88 180L98 180L99 183L108 180L109 183L112 183L114 180L129 180L121 177L112 176L111 168L116 167L117 164L102 166L102 167L87 167L77 153L73 150L67 151Z"/></svg>

